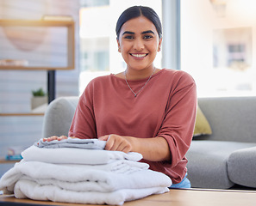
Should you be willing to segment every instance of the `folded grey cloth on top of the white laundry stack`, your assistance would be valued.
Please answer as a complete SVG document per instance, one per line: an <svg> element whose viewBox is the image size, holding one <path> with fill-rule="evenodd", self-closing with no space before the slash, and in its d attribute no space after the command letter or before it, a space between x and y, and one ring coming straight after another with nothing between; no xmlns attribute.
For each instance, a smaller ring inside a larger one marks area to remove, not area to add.
<svg viewBox="0 0 256 206"><path fill-rule="evenodd" d="M34 146L39 148L86 148L86 149L104 149L106 141L98 139L79 139L68 137L63 140L53 140L51 142L43 142L40 139L38 142L34 142Z"/></svg>

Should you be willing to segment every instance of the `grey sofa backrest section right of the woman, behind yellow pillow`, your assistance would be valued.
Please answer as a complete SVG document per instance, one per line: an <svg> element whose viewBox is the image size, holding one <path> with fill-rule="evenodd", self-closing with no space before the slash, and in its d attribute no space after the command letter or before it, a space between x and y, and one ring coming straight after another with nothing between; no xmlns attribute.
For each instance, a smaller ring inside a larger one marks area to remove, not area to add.
<svg viewBox="0 0 256 206"><path fill-rule="evenodd" d="M256 142L256 96L199 98L198 104L212 135L195 139Z"/></svg>

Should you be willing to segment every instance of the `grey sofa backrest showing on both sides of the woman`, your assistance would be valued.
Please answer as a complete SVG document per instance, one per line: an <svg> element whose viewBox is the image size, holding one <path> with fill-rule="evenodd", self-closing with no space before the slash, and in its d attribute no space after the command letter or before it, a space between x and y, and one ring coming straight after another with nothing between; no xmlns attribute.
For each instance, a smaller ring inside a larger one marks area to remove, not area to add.
<svg viewBox="0 0 256 206"><path fill-rule="evenodd" d="M256 97L199 98L198 104L212 129L194 139L256 142ZM42 137L68 134L78 96L61 97L47 107Z"/></svg>

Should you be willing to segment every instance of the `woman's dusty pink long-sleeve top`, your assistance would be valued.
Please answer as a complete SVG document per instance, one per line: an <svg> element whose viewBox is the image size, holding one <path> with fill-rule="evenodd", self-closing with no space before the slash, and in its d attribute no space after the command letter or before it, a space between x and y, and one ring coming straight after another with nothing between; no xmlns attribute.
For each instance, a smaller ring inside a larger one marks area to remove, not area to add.
<svg viewBox="0 0 256 206"><path fill-rule="evenodd" d="M145 82L147 79L128 81L134 92ZM124 79L113 74L100 76L80 96L69 136L162 136L169 144L172 161L142 161L177 184L187 172L185 154L193 136L196 112L196 84L184 71L160 70L136 97Z"/></svg>

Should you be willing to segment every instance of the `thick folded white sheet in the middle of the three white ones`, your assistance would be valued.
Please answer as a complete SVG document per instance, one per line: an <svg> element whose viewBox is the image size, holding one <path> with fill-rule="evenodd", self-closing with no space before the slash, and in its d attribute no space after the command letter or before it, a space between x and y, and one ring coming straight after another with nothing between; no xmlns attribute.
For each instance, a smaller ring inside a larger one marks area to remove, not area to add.
<svg viewBox="0 0 256 206"><path fill-rule="evenodd" d="M34 181L39 185L56 185L70 191L109 192L172 185L172 180L164 173L149 169L124 174L88 167L84 169L83 165L71 167L37 161L21 161L3 174L0 179L0 190L6 194L13 193L16 182L21 179Z"/></svg>

